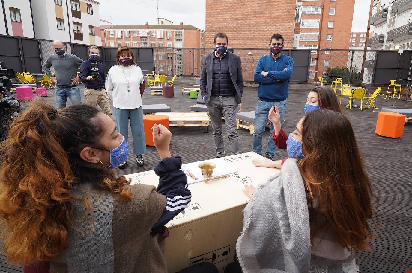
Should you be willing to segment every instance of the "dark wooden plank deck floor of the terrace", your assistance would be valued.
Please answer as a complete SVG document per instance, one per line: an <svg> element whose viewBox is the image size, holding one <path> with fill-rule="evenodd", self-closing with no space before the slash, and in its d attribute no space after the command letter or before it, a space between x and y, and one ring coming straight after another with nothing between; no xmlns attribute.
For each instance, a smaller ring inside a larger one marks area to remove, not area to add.
<svg viewBox="0 0 412 273"><path fill-rule="evenodd" d="M182 95L181 88L184 87L188 86L176 85L175 97L172 98L150 96L150 90L146 88L143 103L167 104L173 112L189 112L190 106L196 104L196 99L190 99L189 95ZM242 98L243 112L255 110L256 94L257 88L245 88ZM307 94L307 90L290 90L283 120L285 132L292 132L297 121L303 116ZM379 110L343 109L344 114L351 120L373 187L379 197L376 216L380 227L372 225L376 236L372 241L372 251L358 252L356 259L362 273L405 273L412 269L412 123L405 124L402 138L391 139L375 134L380 108L412 108L412 103L398 99L384 99L384 97L379 95L376 99L375 105ZM50 104L55 105L51 90L48 90L47 99ZM84 98L82 100L84 101ZM347 100L344 100L344 104L347 104ZM202 130L202 127L171 127L171 132L173 134L171 153L182 156L183 163L215 157L211 124L208 132ZM269 132L266 131L263 151L266 149L268 137ZM252 135L248 130L239 130L239 142L241 153L252 150ZM133 151L133 143L130 142L129 146L129 150ZM228 155L227 136L225 150ZM286 157L286 150L277 150L274 160L284 157ZM145 166L137 167L133 153L130 153L127 167L124 170L116 169L117 174L131 174L153 169L159 161L159 156L154 147L147 146L147 153L143 159ZM0 272L22 272L22 268L8 268L7 264L4 264L5 257L0 258Z"/></svg>

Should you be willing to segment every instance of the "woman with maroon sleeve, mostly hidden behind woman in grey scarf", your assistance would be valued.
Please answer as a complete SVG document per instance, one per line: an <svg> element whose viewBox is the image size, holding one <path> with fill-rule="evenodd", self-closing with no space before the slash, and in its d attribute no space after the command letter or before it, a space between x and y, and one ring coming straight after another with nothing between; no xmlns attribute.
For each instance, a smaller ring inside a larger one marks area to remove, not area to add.
<svg viewBox="0 0 412 273"><path fill-rule="evenodd" d="M329 87L316 87L311 90L309 95L306 98L306 104L304 107L305 115L309 111L313 111L316 109L330 109L338 113L342 113L340 109L339 102L337 100L335 92L330 89ZM280 123L280 116L277 106L272 107L269 111L269 115L267 116L269 120L274 125L273 130L273 140L275 142L276 147L279 149L286 150L287 145L286 141L288 140L288 135L285 134L281 127ZM267 168L278 168L281 169L283 162L286 161L286 158L283 160L253 160L253 164L257 167L267 167Z"/></svg>

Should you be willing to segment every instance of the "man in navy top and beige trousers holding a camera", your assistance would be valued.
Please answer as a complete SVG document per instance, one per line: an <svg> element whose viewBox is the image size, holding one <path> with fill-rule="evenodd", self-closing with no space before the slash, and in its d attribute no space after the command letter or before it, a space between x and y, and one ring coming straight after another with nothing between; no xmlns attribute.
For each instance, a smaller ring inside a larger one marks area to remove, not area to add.
<svg viewBox="0 0 412 273"><path fill-rule="evenodd" d="M103 113L113 118L109 96L105 90L104 67L98 61L100 52L97 46L89 46L89 56L80 66L80 80L84 83L86 104L93 107L99 105Z"/></svg>

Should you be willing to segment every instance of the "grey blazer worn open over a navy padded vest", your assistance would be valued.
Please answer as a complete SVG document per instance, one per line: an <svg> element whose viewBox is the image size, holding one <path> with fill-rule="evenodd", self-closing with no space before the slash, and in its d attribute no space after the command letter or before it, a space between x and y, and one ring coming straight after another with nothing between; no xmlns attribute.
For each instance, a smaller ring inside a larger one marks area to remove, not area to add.
<svg viewBox="0 0 412 273"><path fill-rule="evenodd" d="M208 103L211 93L212 93L212 82L213 82L213 54L209 53L205 56L202 66L202 72L200 74L200 94L203 97L203 101ZM234 97L235 101L240 104L241 97L243 94L243 76L242 76L242 65L240 62L239 55L227 51L229 57L229 74L232 79L234 88L236 89L236 95Z"/></svg>

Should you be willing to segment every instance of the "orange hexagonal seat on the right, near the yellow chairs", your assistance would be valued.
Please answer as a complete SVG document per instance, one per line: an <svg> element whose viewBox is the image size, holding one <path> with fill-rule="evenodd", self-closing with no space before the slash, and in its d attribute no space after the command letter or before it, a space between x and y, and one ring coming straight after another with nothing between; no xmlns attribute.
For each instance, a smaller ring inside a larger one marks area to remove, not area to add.
<svg viewBox="0 0 412 273"><path fill-rule="evenodd" d="M402 137L405 115L392 112L379 112L375 133L392 138Z"/></svg>

